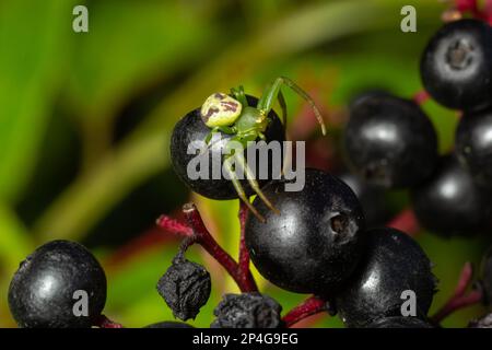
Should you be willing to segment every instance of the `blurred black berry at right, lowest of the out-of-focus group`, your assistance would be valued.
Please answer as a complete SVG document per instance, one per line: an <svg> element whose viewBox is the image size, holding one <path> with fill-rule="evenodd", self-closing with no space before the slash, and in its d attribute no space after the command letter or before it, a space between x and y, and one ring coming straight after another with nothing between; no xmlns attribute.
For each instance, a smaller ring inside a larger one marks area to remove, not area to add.
<svg viewBox="0 0 492 350"><path fill-rule="evenodd" d="M491 222L491 198L454 155L444 156L433 176L411 194L419 222L444 236L487 231Z"/></svg>

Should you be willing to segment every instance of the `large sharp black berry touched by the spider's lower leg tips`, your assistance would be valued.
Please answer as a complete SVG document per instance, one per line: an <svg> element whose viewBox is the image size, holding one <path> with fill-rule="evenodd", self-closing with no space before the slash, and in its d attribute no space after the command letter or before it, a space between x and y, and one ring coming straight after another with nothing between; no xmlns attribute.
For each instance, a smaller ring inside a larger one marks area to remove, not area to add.
<svg viewBox="0 0 492 350"><path fill-rule="evenodd" d="M246 246L260 273L297 293L330 293L353 272L364 249L364 218L353 191L339 178L306 168L302 191L279 180L263 188L280 215L258 199L267 219L248 215Z"/></svg>

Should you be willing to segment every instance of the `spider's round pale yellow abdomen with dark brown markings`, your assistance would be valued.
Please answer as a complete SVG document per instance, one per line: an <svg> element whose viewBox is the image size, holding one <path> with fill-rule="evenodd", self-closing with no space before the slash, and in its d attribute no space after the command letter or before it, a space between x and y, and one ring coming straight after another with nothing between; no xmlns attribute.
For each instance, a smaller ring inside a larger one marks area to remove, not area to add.
<svg viewBox="0 0 492 350"><path fill-rule="evenodd" d="M242 109L237 100L223 93L214 93L201 106L200 116L209 128L227 127L236 121Z"/></svg>

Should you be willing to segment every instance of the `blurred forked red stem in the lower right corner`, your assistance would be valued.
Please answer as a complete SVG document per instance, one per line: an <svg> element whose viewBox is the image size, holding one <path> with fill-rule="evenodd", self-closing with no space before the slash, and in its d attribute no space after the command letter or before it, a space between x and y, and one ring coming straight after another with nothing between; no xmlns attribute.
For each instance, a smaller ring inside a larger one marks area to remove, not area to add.
<svg viewBox="0 0 492 350"><path fill-rule="evenodd" d="M452 298L444 304L437 313L432 316L432 320L435 324L440 324L444 318L449 316L455 311L465 308L470 305L480 303L483 300L483 293L481 290L472 290L468 294L467 289L470 287L473 276L473 268L470 262L466 262L461 275L456 285L455 292Z"/></svg>

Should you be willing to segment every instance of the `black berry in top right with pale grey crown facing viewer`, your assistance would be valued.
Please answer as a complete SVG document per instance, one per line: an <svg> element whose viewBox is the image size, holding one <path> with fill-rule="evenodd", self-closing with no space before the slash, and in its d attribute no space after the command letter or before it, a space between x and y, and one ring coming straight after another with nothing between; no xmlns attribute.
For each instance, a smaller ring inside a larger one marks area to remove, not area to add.
<svg viewBox="0 0 492 350"><path fill-rule="evenodd" d="M490 105L492 30L477 20L445 24L427 44L420 73L425 90L448 108L478 109Z"/></svg>

